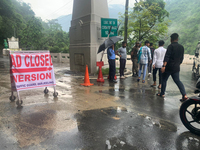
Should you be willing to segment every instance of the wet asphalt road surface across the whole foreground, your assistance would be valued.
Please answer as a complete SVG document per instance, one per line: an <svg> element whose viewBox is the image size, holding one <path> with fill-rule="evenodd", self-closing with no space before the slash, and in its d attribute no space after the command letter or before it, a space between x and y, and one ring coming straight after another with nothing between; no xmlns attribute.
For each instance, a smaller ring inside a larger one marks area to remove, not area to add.
<svg viewBox="0 0 200 150"><path fill-rule="evenodd" d="M90 76L94 86L83 87L82 74L70 72L69 64L54 64L58 98L51 87L47 95L43 89L22 91L24 107L17 109L9 101L8 67L1 56L1 150L200 149L200 137L180 121L181 95L171 78L162 99L150 87L152 78L144 84L131 76L102 84ZM188 96L195 95L191 66L182 65L180 75Z"/></svg>

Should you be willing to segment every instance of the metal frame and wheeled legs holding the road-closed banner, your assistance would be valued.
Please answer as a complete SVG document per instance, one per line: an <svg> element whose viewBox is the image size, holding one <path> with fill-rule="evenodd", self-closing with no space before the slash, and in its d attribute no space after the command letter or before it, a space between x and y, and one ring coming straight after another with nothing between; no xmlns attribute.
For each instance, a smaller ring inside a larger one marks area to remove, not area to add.
<svg viewBox="0 0 200 150"><path fill-rule="evenodd" d="M20 51L20 53L38 53L38 52L40 52L40 53L42 53L42 52L46 53L46 52L49 52L49 51ZM10 57L10 59L11 59L11 57ZM10 60L10 63L11 63L11 60ZM10 71L10 73L11 73L11 71ZM56 92L55 85L53 86L53 88L54 88L53 96L54 96L54 98L56 98L58 96L58 92ZM17 90L13 90L12 87L11 87L11 96L9 98L11 102L14 102L15 99L16 99L16 97L14 96L14 91L17 91ZM47 87L45 87L44 93L48 94L48 92L49 92L49 90L47 89ZM18 97L18 99L16 101L17 108L22 108L23 107L22 106L23 101L20 99L19 91L17 91L17 97Z"/></svg>

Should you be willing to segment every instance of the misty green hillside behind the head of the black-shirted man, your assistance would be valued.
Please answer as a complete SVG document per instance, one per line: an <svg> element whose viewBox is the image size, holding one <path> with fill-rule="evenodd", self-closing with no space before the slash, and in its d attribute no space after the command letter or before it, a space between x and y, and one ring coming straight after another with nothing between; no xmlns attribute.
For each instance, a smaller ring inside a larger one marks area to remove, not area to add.
<svg viewBox="0 0 200 150"><path fill-rule="evenodd" d="M200 40L200 1L199 0L165 0L166 10L171 20L169 35L177 32L179 43L185 47L185 53L194 54ZM169 44L167 40L166 45Z"/></svg>

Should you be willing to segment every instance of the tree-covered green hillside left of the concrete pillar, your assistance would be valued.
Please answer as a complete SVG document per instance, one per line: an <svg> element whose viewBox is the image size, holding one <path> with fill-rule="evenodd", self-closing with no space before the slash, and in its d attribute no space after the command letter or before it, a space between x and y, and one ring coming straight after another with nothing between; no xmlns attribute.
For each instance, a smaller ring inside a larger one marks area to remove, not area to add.
<svg viewBox="0 0 200 150"><path fill-rule="evenodd" d="M17 0L0 0L0 47L3 39L19 38L20 48L68 52L69 36L56 20L43 22L31 7Z"/></svg>

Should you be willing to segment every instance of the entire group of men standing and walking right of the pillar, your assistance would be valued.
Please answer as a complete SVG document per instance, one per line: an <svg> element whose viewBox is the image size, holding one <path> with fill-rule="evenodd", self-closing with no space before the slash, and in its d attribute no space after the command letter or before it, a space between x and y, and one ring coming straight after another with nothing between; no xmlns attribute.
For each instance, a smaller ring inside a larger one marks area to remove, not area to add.
<svg viewBox="0 0 200 150"><path fill-rule="evenodd" d="M138 77L137 81L140 82L140 77L143 72L142 83L145 83L147 68L148 77L151 76L153 68L154 83L151 85L151 87L154 87L157 86L156 74L159 72L158 88L161 89L161 92L157 93L157 96L160 97L165 97L167 80L169 76L171 76L182 94L182 99L180 99L180 101L185 101L187 99L185 88L179 79L180 64L184 58L184 47L178 43L179 35L177 33L173 33L170 37L171 44L167 49L164 48L165 42L163 40L158 42L159 47L157 49L154 49L153 44L148 40L144 42L144 46L142 46L141 42L135 43L135 46L131 51L131 60L133 63L132 76ZM107 54L109 62L109 80L116 83L117 81L114 79L116 70L115 55L120 57L120 78L123 79L125 78L124 69L127 58L126 42L123 42L122 47L119 48L116 52L114 51L114 45L109 47Z"/></svg>

